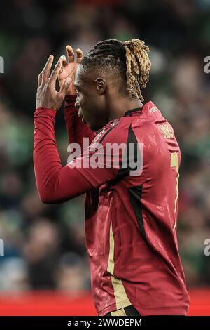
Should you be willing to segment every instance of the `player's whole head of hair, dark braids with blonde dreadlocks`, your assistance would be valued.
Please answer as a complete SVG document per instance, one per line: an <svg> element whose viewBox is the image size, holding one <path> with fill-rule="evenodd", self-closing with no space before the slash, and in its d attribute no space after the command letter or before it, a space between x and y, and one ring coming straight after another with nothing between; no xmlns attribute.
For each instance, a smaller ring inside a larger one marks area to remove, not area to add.
<svg viewBox="0 0 210 330"><path fill-rule="evenodd" d="M80 64L87 69L94 67L111 74L120 74L130 97L144 101L141 88L146 87L151 69L148 51L148 46L139 39L109 39L97 43L85 54Z"/></svg>

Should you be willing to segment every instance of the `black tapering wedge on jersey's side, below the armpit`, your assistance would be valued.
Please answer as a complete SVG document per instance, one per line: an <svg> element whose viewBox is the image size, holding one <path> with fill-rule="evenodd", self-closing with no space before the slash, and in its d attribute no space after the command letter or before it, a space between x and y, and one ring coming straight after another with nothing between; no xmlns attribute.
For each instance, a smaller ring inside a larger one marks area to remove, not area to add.
<svg viewBox="0 0 210 330"><path fill-rule="evenodd" d="M143 222L143 217L142 217L142 209L141 209L142 185L130 187L130 188L128 188L128 192L129 192L132 208L134 209L135 216L137 217L141 235L144 237L145 241L147 242L146 234L145 234L145 230L144 230L144 222Z"/></svg>

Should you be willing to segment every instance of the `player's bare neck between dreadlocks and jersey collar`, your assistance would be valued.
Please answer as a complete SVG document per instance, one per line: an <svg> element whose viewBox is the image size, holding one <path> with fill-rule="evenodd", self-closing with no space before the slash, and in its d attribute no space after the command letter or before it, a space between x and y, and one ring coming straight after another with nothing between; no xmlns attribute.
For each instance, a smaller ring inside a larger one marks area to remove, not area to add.
<svg viewBox="0 0 210 330"><path fill-rule="evenodd" d="M109 121L123 117L125 112L137 107L142 107L143 103L139 99L131 99L126 97L112 98L109 105Z"/></svg>

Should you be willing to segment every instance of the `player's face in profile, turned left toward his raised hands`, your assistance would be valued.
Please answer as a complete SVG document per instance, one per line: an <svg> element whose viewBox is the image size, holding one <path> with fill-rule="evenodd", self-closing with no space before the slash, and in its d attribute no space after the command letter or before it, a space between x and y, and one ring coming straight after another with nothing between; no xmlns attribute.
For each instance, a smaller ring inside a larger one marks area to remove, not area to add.
<svg viewBox="0 0 210 330"><path fill-rule="evenodd" d="M93 131L99 130L109 119L105 93L99 90L96 72L86 72L78 65L74 86L77 93L75 106L83 123L87 123Z"/></svg>

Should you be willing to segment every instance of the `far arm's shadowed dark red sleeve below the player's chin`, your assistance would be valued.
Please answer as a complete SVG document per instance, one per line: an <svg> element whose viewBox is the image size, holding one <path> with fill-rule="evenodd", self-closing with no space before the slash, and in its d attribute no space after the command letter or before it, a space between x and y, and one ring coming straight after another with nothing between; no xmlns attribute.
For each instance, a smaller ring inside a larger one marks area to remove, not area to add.
<svg viewBox="0 0 210 330"><path fill-rule="evenodd" d="M74 107L76 95L66 97L64 105L64 118L69 137L69 143L78 143L83 151L83 138L89 138L92 142L96 133L87 124L83 124L81 117L78 117L78 110Z"/></svg>

